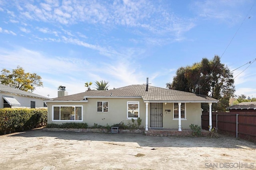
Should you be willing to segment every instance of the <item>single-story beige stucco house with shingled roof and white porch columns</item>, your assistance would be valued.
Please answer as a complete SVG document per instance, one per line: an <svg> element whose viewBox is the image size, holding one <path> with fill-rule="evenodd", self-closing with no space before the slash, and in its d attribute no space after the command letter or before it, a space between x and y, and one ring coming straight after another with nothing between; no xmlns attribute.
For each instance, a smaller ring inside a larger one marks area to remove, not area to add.
<svg viewBox="0 0 256 170"><path fill-rule="evenodd" d="M148 128L189 129L201 125L201 103L208 103L211 120L212 103L208 96L148 85L131 85L107 91L87 91L46 100L48 123L85 122L88 126L114 125L142 119ZM212 126L212 121L209 122Z"/></svg>

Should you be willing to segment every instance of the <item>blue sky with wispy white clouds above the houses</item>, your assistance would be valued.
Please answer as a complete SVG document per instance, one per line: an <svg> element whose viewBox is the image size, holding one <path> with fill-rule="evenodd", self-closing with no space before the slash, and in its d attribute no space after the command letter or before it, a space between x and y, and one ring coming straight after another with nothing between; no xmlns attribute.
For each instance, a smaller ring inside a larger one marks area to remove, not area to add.
<svg viewBox="0 0 256 170"><path fill-rule="evenodd" d="M34 93L50 98L96 80L165 88L179 67L223 53L230 70L256 59L254 0L0 0L0 70L42 76ZM256 97L249 65L234 71L236 94Z"/></svg>

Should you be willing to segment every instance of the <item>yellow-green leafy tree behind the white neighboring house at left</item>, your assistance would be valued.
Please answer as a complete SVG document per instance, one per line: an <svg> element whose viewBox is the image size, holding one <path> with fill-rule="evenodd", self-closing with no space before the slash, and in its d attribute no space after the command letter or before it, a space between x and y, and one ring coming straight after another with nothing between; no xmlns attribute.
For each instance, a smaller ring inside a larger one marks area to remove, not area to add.
<svg viewBox="0 0 256 170"><path fill-rule="evenodd" d="M36 87L43 86L41 76L36 73L25 72L25 70L17 66L12 72L7 69L2 69L0 82L6 86L10 86L23 91L33 91Z"/></svg>

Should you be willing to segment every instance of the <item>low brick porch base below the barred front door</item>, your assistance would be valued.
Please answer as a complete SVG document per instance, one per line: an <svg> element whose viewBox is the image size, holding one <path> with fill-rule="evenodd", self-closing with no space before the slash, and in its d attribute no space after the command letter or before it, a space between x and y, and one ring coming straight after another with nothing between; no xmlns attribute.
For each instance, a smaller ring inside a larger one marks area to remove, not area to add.
<svg viewBox="0 0 256 170"><path fill-rule="evenodd" d="M202 136L207 136L209 131L202 129ZM146 136L192 136L191 129L182 129L178 131L177 129L148 129L145 131Z"/></svg>

